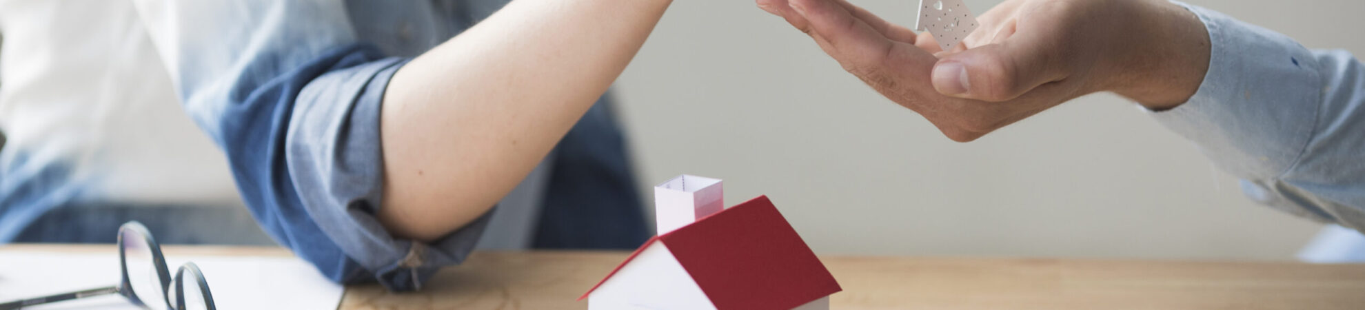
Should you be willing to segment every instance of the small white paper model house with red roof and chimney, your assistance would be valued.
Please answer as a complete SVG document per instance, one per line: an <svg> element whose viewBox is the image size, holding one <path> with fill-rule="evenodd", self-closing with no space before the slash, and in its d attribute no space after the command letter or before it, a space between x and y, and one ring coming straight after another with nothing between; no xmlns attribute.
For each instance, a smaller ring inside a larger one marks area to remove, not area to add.
<svg viewBox="0 0 1365 310"><path fill-rule="evenodd" d="M583 298L590 310L826 310L842 291L767 197L723 209L721 180L655 187L659 235Z"/></svg>

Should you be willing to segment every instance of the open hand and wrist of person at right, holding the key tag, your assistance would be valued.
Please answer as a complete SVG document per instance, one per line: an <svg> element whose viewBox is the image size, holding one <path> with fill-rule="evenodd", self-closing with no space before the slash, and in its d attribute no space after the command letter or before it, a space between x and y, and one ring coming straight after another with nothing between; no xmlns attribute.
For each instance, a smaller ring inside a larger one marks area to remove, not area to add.
<svg viewBox="0 0 1365 310"><path fill-rule="evenodd" d="M1174 108L1208 70L1204 25L1164 0L1007 0L946 52L846 0L756 1L960 142L1096 91Z"/></svg>

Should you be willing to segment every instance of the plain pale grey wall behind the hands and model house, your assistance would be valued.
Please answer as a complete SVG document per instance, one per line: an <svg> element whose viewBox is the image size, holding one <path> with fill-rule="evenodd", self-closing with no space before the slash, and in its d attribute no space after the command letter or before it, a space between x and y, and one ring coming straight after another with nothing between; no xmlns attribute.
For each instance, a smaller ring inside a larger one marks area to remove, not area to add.
<svg viewBox="0 0 1365 310"><path fill-rule="evenodd" d="M916 0L850 0L915 23ZM999 1L966 0L975 14ZM1192 0L1361 55L1365 1ZM957 143L751 0L676 1L617 83L639 187L725 179L822 254L1293 259L1320 224L1256 205L1111 94ZM652 205L652 203L650 203Z"/></svg>

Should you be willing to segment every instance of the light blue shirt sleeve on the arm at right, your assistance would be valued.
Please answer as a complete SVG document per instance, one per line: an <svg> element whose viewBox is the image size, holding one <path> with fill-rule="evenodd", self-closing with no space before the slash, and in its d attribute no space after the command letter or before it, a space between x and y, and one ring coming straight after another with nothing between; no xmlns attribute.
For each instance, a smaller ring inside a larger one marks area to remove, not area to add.
<svg viewBox="0 0 1365 310"><path fill-rule="evenodd" d="M1365 231L1365 71L1345 51L1183 3L1208 29L1198 91L1152 116L1200 146L1244 193L1295 216Z"/></svg>

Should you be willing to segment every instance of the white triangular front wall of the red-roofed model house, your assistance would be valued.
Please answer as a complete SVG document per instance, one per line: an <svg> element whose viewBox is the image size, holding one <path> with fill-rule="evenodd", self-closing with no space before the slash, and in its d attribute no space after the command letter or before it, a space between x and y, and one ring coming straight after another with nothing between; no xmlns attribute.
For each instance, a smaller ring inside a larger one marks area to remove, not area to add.
<svg viewBox="0 0 1365 310"><path fill-rule="evenodd" d="M588 295L588 310L715 309L673 253L655 242Z"/></svg>

